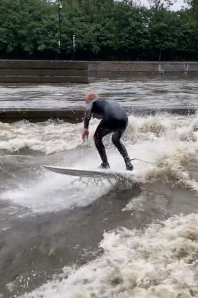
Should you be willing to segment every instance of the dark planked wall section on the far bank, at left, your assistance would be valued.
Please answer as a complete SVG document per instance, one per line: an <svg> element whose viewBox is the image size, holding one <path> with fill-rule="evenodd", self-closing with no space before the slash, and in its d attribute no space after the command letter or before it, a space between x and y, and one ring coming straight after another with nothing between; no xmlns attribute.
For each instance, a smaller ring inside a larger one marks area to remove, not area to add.
<svg viewBox="0 0 198 298"><path fill-rule="evenodd" d="M0 82L88 83L85 61L0 60Z"/></svg>

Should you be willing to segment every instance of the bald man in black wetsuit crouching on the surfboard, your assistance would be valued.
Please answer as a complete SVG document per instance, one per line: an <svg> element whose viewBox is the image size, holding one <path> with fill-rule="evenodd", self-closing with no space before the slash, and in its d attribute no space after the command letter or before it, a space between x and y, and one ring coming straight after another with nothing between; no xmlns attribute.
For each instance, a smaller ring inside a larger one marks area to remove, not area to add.
<svg viewBox="0 0 198 298"><path fill-rule="evenodd" d="M127 150L120 141L120 138L122 137L128 125L126 111L115 100L109 101L104 98L98 98L95 93L88 94L85 98L85 102L87 103L87 108L85 110L84 116L84 132L82 134L83 141L85 141L85 139L89 136L89 122L92 113L96 113L102 117L94 134L94 142L102 160L99 168L109 168L102 138L113 133L112 143L124 158L126 169L133 170L133 165L131 164Z"/></svg>

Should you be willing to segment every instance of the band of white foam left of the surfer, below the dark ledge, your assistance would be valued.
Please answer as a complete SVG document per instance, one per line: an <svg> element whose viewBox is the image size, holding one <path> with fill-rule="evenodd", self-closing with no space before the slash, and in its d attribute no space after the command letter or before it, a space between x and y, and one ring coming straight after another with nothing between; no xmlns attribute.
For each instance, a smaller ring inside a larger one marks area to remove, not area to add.
<svg viewBox="0 0 198 298"><path fill-rule="evenodd" d="M63 121L1 123L0 149L14 152L29 148L46 154L72 149L82 144L81 126Z"/></svg>

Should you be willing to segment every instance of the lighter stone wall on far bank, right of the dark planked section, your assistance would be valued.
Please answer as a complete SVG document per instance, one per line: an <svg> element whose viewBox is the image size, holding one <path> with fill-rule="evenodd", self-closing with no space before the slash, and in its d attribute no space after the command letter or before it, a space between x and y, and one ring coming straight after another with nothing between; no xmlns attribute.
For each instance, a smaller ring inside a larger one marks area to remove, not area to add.
<svg viewBox="0 0 198 298"><path fill-rule="evenodd" d="M88 62L89 76L198 74L198 62Z"/></svg>

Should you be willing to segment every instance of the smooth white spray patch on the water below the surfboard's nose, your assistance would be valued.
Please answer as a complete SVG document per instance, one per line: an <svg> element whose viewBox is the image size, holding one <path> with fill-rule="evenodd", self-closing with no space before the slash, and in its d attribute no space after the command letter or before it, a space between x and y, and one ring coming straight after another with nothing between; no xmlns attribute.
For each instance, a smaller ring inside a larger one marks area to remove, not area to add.
<svg viewBox="0 0 198 298"><path fill-rule="evenodd" d="M36 181L27 181L19 187L1 194L1 199L32 213L49 213L84 207L110 190L111 185L100 181L83 181L80 178L46 173Z"/></svg>

